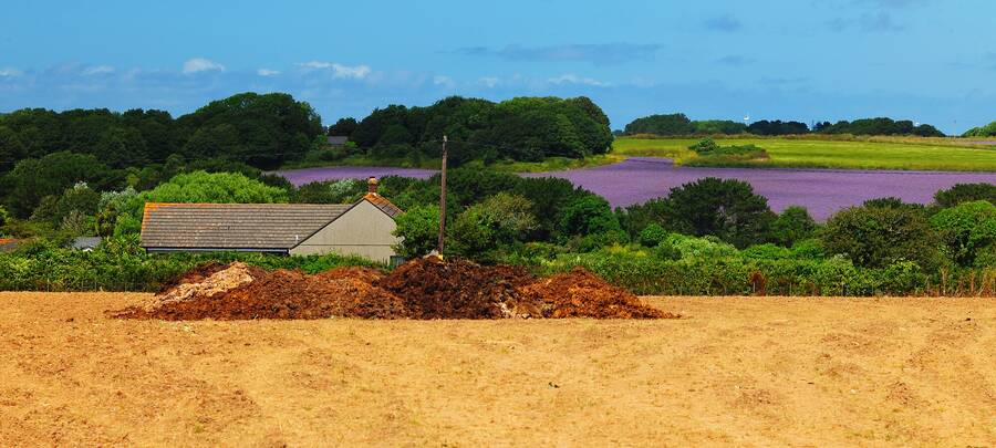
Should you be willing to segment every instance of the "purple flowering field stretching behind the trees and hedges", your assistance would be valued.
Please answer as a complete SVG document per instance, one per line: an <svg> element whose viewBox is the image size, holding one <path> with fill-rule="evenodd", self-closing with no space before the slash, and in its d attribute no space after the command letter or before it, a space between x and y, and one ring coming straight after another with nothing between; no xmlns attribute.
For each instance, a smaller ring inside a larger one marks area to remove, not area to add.
<svg viewBox="0 0 996 448"><path fill-rule="evenodd" d="M404 168L333 167L278 173L294 185L314 180L409 176L427 178L435 171ZM666 196L671 188L703 177L740 179L768 198L776 211L803 206L823 221L834 211L868 199L894 196L907 202L928 204L934 192L955 184L996 184L996 173L892 171L857 169L695 168L679 167L666 158L633 157L615 165L553 173L529 173L525 177L553 176L584 187L612 204L624 207Z"/></svg>

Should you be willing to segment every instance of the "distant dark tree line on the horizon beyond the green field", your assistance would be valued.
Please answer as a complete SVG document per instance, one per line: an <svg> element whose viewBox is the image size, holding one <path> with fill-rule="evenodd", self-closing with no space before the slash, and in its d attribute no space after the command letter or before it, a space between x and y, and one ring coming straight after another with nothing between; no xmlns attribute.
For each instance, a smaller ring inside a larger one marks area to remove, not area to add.
<svg viewBox="0 0 996 448"><path fill-rule="evenodd" d="M888 117L861 118L853 122L819 122L812 127L802 122L761 119L737 123L729 119L692 121L685 114L658 114L636 118L625 126L623 135L654 134L664 136L753 134L753 135L799 135L799 134L851 134L851 135L915 135L921 137L943 137L936 127L916 124L909 119Z"/></svg>

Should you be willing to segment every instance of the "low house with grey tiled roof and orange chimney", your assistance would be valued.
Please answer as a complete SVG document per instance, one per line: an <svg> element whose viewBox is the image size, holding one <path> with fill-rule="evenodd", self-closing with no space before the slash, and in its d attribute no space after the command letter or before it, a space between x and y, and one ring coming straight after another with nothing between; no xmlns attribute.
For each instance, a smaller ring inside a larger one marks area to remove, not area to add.
<svg viewBox="0 0 996 448"><path fill-rule="evenodd" d="M289 256L339 252L388 262L402 213L377 194L352 205L160 204L145 205L142 247L156 252L266 252Z"/></svg>

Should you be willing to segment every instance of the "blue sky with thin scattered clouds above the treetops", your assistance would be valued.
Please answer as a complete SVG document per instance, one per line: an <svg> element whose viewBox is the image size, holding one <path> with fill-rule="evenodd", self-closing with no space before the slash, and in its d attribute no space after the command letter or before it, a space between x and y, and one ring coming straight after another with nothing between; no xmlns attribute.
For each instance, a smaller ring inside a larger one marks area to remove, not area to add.
<svg viewBox="0 0 996 448"><path fill-rule="evenodd" d="M288 92L329 124L448 95L587 95L652 113L996 119L996 2L44 1L0 15L0 112L188 113Z"/></svg>

